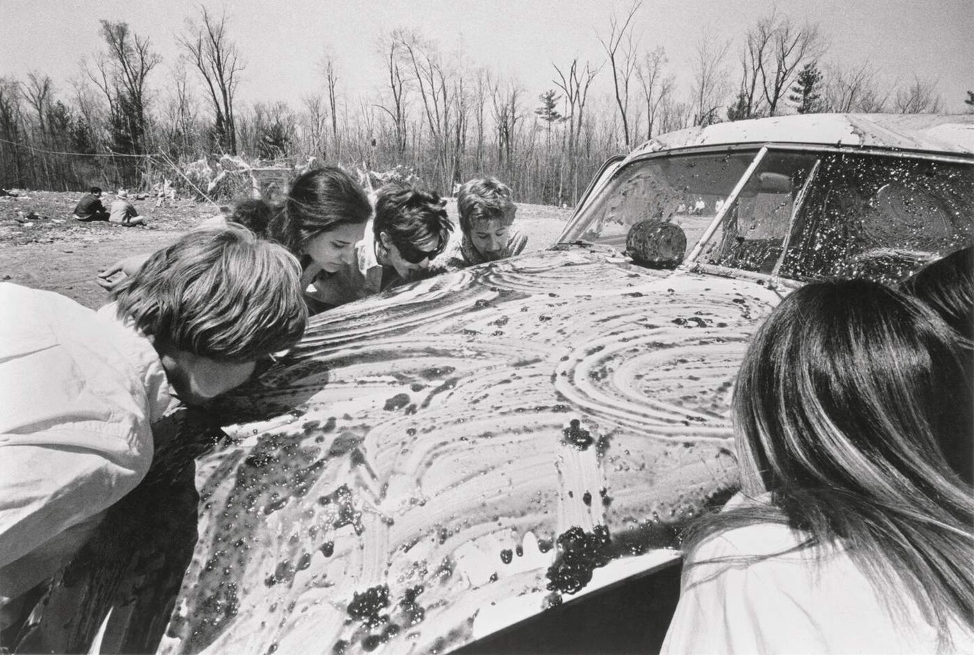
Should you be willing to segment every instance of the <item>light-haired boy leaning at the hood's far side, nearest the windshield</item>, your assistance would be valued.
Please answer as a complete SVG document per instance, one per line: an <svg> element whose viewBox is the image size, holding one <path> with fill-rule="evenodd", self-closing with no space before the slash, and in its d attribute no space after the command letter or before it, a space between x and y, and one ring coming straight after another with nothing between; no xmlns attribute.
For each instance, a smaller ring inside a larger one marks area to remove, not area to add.
<svg viewBox="0 0 974 655"><path fill-rule="evenodd" d="M513 229L517 205L510 200L510 189L496 177L472 179L457 195L460 231L463 238L446 265L465 268L519 255L528 244Z"/></svg>

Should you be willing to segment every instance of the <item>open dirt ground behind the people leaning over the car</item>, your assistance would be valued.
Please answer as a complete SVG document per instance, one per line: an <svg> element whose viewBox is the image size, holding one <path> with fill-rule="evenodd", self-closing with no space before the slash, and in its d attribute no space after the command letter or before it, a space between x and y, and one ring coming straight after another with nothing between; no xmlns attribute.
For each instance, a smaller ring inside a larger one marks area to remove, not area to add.
<svg viewBox="0 0 974 655"><path fill-rule="evenodd" d="M150 252L216 213L208 202L175 200L154 209L155 199L133 200L146 227L124 228L107 222L81 223L71 218L83 194L21 191L18 198L0 198L0 279L37 289L57 291L82 305L97 308L106 300L94 281L97 272L119 259ZM102 197L106 206L112 197ZM447 210L456 220L456 202ZM27 218L31 214L39 218ZM528 249L547 247L561 234L571 209L519 204L518 223L528 235Z"/></svg>

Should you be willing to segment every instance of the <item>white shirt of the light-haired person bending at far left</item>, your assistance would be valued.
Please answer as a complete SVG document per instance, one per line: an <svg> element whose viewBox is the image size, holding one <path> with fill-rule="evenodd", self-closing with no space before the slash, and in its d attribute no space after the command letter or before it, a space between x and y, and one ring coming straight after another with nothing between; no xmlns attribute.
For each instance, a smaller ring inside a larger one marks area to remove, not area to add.
<svg viewBox="0 0 974 655"><path fill-rule="evenodd" d="M0 596L54 573L142 480L171 403L155 349L114 305L0 283Z"/></svg>

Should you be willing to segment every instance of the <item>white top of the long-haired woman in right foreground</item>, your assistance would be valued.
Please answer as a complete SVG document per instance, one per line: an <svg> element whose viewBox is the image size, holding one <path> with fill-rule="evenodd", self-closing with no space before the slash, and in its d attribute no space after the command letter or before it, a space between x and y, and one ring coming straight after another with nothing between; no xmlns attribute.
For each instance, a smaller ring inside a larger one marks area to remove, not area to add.
<svg viewBox="0 0 974 655"><path fill-rule="evenodd" d="M937 651L937 630L924 621L907 590L892 592L907 605L907 615L894 619L842 546L775 555L802 539L776 524L735 528L705 539L685 565L680 601L661 652ZM739 561L760 555L773 557ZM738 561L693 565L721 558ZM952 635L956 652L974 651L974 635L959 624Z"/></svg>

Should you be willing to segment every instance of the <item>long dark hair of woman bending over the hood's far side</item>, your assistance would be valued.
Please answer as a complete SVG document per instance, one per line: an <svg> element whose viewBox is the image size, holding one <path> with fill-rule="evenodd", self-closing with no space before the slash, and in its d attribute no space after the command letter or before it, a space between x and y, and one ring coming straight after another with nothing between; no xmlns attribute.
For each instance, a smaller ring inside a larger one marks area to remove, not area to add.
<svg viewBox="0 0 974 655"><path fill-rule="evenodd" d="M338 166L323 166L294 180L266 234L298 253L309 238L347 223L364 224L371 215L372 205L356 180Z"/></svg>

